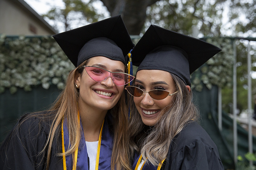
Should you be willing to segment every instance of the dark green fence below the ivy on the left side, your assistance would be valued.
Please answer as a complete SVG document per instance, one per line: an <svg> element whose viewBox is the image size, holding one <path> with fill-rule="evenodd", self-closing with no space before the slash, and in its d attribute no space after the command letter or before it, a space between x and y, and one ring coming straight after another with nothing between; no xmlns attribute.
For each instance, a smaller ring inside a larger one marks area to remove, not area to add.
<svg viewBox="0 0 256 170"><path fill-rule="evenodd" d="M60 91L55 85L51 85L48 89L36 86L32 91L18 88L15 94L11 94L9 90L0 94L0 142L21 115L47 109L57 99Z"/></svg>

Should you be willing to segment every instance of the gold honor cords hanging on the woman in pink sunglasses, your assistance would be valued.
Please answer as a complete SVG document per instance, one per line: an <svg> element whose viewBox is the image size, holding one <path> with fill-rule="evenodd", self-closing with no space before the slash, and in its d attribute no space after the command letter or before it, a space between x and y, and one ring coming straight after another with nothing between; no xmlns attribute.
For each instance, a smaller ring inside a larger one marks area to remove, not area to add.
<svg viewBox="0 0 256 170"><path fill-rule="evenodd" d="M77 116L78 116L78 122L80 124L80 114L79 111L77 111ZM64 122L64 117L62 119L62 124L61 124L61 136L62 136L62 153L63 153L63 170L67 170L67 165L66 165L66 155L65 155L65 146L64 146L64 131L63 131L63 122ZM102 135L102 130L103 130L103 124L104 120L101 125L101 130L100 130L100 136L99 136L99 142L98 142L98 149L97 149L97 157L96 157L96 166L95 170L99 169L99 158L100 158L100 144L101 144L101 135ZM76 163L77 163L77 153L78 153L78 147L75 150L75 163L73 165L73 170L76 169Z"/></svg>

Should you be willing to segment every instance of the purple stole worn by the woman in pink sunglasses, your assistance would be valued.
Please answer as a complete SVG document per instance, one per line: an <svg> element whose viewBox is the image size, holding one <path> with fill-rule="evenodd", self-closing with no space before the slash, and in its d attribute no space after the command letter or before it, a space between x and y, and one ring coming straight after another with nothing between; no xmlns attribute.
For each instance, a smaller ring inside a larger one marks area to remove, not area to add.
<svg viewBox="0 0 256 170"><path fill-rule="evenodd" d="M81 140L80 140L80 144L77 152L76 169L89 170L88 154L87 154L86 143L84 138L84 130L83 130L81 119L80 119L80 126L82 131L81 131ZM69 135L68 135L68 127L67 127L66 121L64 121L63 123L63 133L64 133L64 146L66 151L68 150L68 145L69 145ZM108 123L105 120L103 124L103 129L102 129L102 136L101 136L100 156L99 156L99 165L98 165L99 170L111 170L112 148L113 148L113 136L110 133ZM66 167L67 167L67 170L72 170L73 168L72 155L66 155Z"/></svg>

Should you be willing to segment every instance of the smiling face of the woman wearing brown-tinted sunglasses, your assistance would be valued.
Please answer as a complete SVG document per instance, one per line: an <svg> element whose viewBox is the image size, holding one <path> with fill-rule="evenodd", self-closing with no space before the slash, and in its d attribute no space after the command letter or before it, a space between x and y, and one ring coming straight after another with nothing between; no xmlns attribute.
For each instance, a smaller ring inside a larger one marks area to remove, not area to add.
<svg viewBox="0 0 256 170"><path fill-rule="evenodd" d="M143 91L154 89L167 90L170 94L176 91L175 82L170 73L162 70L140 70L136 74L135 85ZM155 125L161 116L161 110L169 106L173 96L162 100L152 99L148 93L141 97L133 97L133 101L145 125Z"/></svg>

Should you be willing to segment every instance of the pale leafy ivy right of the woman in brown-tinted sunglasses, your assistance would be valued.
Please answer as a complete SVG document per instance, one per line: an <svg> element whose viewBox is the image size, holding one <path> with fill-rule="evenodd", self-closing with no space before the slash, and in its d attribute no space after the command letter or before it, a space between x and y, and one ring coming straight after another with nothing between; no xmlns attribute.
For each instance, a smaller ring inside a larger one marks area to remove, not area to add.
<svg viewBox="0 0 256 170"><path fill-rule="evenodd" d="M221 48L222 51L210 58L206 64L191 74L191 88L201 91L203 84L208 89L211 89L213 85L231 87L234 63L231 39L207 38L206 41Z"/></svg>

